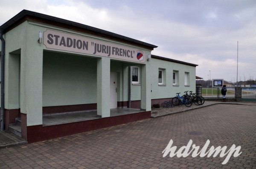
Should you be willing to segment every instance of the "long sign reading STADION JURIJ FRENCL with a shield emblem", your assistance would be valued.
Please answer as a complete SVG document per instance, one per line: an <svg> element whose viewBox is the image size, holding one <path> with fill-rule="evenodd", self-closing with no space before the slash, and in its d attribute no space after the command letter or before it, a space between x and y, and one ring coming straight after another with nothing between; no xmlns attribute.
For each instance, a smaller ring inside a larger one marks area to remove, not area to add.
<svg viewBox="0 0 256 169"><path fill-rule="evenodd" d="M44 45L49 49L111 57L140 63L145 63L146 61L146 53L140 49L49 29L44 32Z"/></svg>

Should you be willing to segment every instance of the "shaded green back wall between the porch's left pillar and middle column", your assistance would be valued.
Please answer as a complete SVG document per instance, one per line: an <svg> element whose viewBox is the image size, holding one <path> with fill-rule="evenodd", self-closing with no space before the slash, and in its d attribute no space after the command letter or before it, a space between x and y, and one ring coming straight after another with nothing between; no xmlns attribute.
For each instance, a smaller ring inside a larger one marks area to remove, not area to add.
<svg viewBox="0 0 256 169"><path fill-rule="evenodd" d="M97 102L97 59L44 52L43 106Z"/></svg>

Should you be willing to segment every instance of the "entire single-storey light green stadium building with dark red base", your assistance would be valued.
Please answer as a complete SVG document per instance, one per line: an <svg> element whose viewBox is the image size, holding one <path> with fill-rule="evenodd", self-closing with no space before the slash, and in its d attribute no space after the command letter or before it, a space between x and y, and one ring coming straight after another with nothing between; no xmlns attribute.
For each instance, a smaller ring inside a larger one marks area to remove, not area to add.
<svg viewBox="0 0 256 169"><path fill-rule="evenodd" d="M0 26L0 39L1 130L20 119L30 143L149 118L153 104L195 91L197 65L69 20L23 10ZM112 116L114 109L135 112ZM44 124L78 112L97 118Z"/></svg>

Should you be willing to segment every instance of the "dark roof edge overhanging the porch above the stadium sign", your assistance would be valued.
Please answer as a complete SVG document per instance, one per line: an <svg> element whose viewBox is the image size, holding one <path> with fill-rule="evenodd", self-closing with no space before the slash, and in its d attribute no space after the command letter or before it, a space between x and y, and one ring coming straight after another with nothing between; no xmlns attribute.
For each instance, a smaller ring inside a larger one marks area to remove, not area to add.
<svg viewBox="0 0 256 169"><path fill-rule="evenodd" d="M137 46L141 46L141 47L144 47L144 48L150 49L150 50L154 50L154 48L158 47L158 46L152 45L150 43L145 43L140 40L135 40L130 37L125 37L125 36L122 36L119 34L115 34L113 32L108 32L108 31L98 29L98 28L95 28L92 26L87 26L87 25L84 25L81 23L61 19L58 17L52 17L50 15L41 14L41 13L34 12L34 11L28 11L26 9L20 11L18 14L16 14L14 17L12 17L10 20L8 20L2 26L0 26L0 30L2 30L3 33L6 33L9 30L20 25L20 23L23 23L26 20L34 20L37 22L52 24L55 26L60 26L60 27L64 27L67 29L72 29L72 30L76 30L76 31L84 32L84 33L90 33L90 34L93 34L96 36L106 37L106 38L118 40L121 42L137 44Z"/></svg>

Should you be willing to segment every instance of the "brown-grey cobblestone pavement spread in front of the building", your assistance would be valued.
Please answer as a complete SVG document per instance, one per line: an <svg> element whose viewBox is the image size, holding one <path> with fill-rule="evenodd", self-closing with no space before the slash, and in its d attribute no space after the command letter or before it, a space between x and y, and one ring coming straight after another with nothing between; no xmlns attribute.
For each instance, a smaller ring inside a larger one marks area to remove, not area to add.
<svg viewBox="0 0 256 169"><path fill-rule="evenodd" d="M255 105L255 104L252 104ZM0 149L0 169L256 169L256 106L213 104L77 135ZM241 155L163 158L170 139L241 146Z"/></svg>

